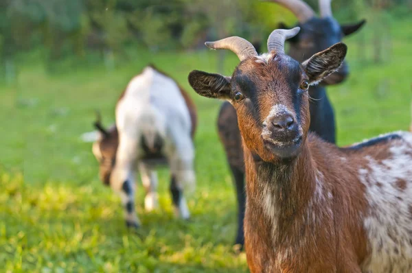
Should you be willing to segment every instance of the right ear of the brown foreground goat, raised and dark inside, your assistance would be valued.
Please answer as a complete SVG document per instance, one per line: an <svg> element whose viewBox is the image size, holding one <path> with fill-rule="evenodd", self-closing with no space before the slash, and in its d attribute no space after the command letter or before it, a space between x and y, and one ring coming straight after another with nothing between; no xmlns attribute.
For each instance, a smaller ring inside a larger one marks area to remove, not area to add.
<svg viewBox="0 0 412 273"><path fill-rule="evenodd" d="M338 70L345 59L347 46L336 43L302 63L310 85L319 83L323 78Z"/></svg>

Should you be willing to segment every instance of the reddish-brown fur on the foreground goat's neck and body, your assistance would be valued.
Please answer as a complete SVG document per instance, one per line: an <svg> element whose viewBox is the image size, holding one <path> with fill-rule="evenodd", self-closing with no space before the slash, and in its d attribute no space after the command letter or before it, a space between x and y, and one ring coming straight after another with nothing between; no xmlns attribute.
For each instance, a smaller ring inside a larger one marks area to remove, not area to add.
<svg viewBox="0 0 412 273"><path fill-rule="evenodd" d="M381 145L385 147L380 148L389 150L391 144L385 143ZM374 146L353 152L339 150L309 135L293 166L288 166L291 169L285 167L282 170L282 167L255 162L251 152L245 149L248 203L244 228L251 272L277 272L275 269L282 272L360 272L358 265L368 253L365 230L358 219L367 213L367 202L363 198L365 187L352 168L366 167L363 160L365 155L379 160L381 154L374 152L376 150ZM342 164L341 158L345 158L349 164ZM256 175L260 168L278 171L277 176L283 175L290 179L262 181L262 177ZM333 195L332 200L326 200L319 204L319 208L313 208L320 212L326 204L331 206L333 217L323 215L322 218L322 215L317 214L321 218L321 226L303 220L304 208L314 192L314 174L310 171L314 169L321 171L324 176L324 191L330 191ZM304 181L312 183L306 184ZM262 189L259 186L262 182L275 183L273 196L277 200L276 206L282 210L277 219L279 230L275 241L271 228L268 228L272 223L265 217L260 205ZM307 238L312 238L312 241L307 242L306 248L300 246L301 241ZM279 257L279 252L287 249L293 249L293 254L284 263L277 263L275 259Z"/></svg>

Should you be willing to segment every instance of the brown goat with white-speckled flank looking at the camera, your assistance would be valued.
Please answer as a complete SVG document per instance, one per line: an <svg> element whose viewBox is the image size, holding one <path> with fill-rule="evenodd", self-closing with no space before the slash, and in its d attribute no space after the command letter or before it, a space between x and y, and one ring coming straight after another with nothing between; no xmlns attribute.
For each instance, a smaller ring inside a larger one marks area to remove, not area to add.
<svg viewBox="0 0 412 273"><path fill-rule="evenodd" d="M339 69L337 43L299 63L275 29L258 56L240 37L207 42L231 49L231 77L192 71L204 97L236 109L244 147L244 236L251 272L411 272L412 134L395 132L336 147L309 131L308 88Z"/></svg>

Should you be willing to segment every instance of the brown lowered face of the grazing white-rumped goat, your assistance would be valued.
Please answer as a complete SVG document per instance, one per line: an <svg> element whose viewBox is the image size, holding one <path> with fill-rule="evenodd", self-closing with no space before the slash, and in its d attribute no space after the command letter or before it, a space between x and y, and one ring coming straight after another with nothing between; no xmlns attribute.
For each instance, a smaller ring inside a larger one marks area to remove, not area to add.
<svg viewBox="0 0 412 273"><path fill-rule="evenodd" d="M93 154L99 163L99 176L104 185L110 185L110 177L115 166L119 135L113 126L100 132L100 138L93 143Z"/></svg>

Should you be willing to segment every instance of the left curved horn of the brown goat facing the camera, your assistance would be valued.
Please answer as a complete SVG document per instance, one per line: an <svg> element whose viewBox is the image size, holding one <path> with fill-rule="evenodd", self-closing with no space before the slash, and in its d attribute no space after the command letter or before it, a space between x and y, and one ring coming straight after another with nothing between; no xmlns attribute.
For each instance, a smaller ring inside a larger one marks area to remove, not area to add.
<svg viewBox="0 0 412 273"><path fill-rule="evenodd" d="M258 56L255 47L249 41L238 36L231 36L216 42L206 42L205 46L211 49L230 49L242 61L250 56Z"/></svg>

